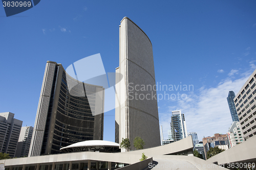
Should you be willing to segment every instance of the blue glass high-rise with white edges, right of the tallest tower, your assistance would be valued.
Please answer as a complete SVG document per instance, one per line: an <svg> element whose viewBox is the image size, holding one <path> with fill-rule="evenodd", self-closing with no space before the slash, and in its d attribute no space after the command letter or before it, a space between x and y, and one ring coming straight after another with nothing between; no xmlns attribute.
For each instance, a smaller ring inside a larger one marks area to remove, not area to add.
<svg viewBox="0 0 256 170"><path fill-rule="evenodd" d="M180 110L172 111L170 128L172 130L172 138L174 141L187 137L185 116Z"/></svg>

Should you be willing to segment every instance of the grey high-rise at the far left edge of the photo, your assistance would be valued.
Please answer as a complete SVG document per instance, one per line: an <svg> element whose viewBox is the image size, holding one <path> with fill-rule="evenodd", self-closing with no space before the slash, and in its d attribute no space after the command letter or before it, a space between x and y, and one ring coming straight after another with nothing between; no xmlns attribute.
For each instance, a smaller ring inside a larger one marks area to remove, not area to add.
<svg viewBox="0 0 256 170"><path fill-rule="evenodd" d="M0 113L0 152L14 157L22 121L11 112Z"/></svg>

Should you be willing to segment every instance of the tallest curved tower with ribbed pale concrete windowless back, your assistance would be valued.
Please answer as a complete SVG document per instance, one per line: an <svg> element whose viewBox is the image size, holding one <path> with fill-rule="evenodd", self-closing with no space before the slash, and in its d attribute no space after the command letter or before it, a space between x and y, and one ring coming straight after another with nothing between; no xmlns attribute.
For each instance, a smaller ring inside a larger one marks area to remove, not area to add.
<svg viewBox="0 0 256 170"><path fill-rule="evenodd" d="M133 140L139 136L145 141L144 148L159 146L161 139L152 43L127 17L121 20L119 26L119 67L116 73L116 82L119 83L116 84L115 141L120 143L122 138L129 138L131 150L134 150Z"/></svg>

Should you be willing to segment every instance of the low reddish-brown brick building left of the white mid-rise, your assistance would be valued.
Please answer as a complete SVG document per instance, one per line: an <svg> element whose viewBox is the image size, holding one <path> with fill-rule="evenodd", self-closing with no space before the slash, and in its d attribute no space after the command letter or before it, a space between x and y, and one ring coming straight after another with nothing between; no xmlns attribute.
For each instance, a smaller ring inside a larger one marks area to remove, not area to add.
<svg viewBox="0 0 256 170"><path fill-rule="evenodd" d="M210 148L218 147L220 149L228 149L228 139L226 134L216 133L214 136L208 136L203 138L205 158Z"/></svg>

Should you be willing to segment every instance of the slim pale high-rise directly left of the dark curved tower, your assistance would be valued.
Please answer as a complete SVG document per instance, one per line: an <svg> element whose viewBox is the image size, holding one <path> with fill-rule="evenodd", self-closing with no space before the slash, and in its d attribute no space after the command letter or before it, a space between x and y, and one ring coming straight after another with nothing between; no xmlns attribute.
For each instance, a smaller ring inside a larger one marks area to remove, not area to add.
<svg viewBox="0 0 256 170"><path fill-rule="evenodd" d="M25 126L20 130L15 157L27 157L29 155L33 129L32 126Z"/></svg>

